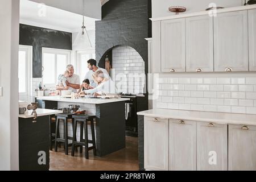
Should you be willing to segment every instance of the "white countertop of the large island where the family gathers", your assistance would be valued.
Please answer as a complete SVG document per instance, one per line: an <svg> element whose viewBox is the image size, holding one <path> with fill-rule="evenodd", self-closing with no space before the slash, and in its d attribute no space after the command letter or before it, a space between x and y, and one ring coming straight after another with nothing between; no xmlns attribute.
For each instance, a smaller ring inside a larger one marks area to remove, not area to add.
<svg viewBox="0 0 256 182"><path fill-rule="evenodd" d="M44 97L36 97L38 100L43 101L58 101L58 102L75 102L75 103L84 103L84 104L108 104L112 102L121 102L121 101L129 101L129 98L63 98L60 96L44 96Z"/></svg>

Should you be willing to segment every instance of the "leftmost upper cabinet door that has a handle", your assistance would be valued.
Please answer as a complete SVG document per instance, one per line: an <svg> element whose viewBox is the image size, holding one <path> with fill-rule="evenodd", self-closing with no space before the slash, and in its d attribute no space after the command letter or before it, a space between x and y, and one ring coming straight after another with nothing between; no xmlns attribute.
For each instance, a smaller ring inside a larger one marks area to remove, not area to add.
<svg viewBox="0 0 256 182"><path fill-rule="evenodd" d="M185 72L185 19L161 22L162 72Z"/></svg>

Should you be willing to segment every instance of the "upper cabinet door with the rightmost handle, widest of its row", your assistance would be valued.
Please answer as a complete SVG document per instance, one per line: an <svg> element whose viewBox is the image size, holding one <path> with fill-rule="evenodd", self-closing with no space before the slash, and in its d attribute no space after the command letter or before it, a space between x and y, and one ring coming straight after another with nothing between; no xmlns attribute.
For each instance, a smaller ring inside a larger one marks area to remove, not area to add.
<svg viewBox="0 0 256 182"><path fill-rule="evenodd" d="M248 71L247 10L220 13L214 22L214 71Z"/></svg>

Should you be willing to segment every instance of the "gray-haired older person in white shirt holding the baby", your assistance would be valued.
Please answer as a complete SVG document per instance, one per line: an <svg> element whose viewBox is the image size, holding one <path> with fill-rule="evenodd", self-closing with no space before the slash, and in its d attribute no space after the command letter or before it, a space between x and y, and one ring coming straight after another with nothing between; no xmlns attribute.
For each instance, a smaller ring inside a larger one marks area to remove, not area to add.
<svg viewBox="0 0 256 182"><path fill-rule="evenodd" d="M67 65L67 71L69 76L67 78L66 84L69 87L68 90L72 90L74 93L77 93L77 90L80 89L80 78L78 75L74 74L74 67L72 64ZM56 86L57 90L63 90L59 86Z"/></svg>

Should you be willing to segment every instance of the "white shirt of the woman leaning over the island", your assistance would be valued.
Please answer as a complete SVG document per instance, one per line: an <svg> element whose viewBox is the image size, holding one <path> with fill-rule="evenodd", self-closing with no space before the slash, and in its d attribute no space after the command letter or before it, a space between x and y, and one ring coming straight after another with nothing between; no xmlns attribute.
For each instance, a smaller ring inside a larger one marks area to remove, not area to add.
<svg viewBox="0 0 256 182"><path fill-rule="evenodd" d="M96 93L96 92L101 95L102 94L115 94L115 93L117 93L117 89L115 87L114 81L109 79L108 81L101 83L94 89L84 90L84 93Z"/></svg>

